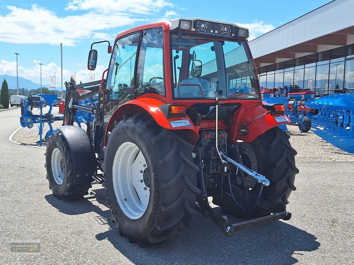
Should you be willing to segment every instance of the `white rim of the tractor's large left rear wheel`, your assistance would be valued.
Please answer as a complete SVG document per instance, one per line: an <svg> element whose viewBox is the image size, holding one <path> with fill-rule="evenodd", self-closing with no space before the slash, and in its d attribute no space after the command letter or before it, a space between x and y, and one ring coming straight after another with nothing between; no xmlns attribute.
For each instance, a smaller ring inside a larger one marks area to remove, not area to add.
<svg viewBox="0 0 354 265"><path fill-rule="evenodd" d="M146 159L135 143L124 142L118 147L112 166L113 189L120 209L130 219L142 217L148 207L148 172Z"/></svg>

